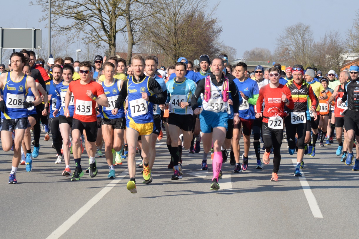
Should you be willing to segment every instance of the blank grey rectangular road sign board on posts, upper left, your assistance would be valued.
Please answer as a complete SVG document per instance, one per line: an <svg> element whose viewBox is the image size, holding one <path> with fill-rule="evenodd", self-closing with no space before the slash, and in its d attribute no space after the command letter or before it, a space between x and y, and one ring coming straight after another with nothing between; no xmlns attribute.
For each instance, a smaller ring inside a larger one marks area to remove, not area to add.
<svg viewBox="0 0 359 239"><path fill-rule="evenodd" d="M32 28L0 28L3 48L9 49L41 49L41 29ZM34 45L33 45L34 44Z"/></svg>

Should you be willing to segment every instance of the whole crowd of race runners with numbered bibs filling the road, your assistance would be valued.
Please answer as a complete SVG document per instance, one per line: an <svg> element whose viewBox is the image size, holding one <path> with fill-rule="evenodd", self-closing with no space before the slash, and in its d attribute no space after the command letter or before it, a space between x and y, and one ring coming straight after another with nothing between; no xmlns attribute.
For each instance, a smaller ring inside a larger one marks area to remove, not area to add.
<svg viewBox="0 0 359 239"><path fill-rule="evenodd" d="M65 164L59 174L71 181L84 173L95 177L96 159L106 158L113 179L116 165L126 159L131 193L137 192L137 167L143 168L143 183L153 181L156 142L164 132L171 180L182 179L183 150L201 153L199 169L208 170L212 161L211 190L220 188L222 163L229 157L233 173L246 171L250 151L256 160L251 167L262 169L272 160L270 180L278 181L283 139L289 154L297 153L294 176L302 176L304 155L316 156L318 140L325 147L335 136L339 160L359 170L358 148L356 157L353 153L359 147L354 143L359 139L358 65L338 76L299 64L285 71L280 64L258 65L250 72L244 62L230 66L226 54L214 59L204 54L199 62L194 69L181 57L166 69L155 56L135 55L127 66L116 56L74 62L71 57L36 59L27 50L12 53L8 71L0 64L1 144L14 152L8 183L17 183L19 164L32 171L42 130L44 140L52 137L54 163Z"/></svg>

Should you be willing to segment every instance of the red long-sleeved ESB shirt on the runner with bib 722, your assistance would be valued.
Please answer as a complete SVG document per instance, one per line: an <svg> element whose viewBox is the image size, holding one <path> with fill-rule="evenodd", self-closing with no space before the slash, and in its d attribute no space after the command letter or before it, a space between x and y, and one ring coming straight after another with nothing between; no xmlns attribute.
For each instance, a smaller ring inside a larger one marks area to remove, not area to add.
<svg viewBox="0 0 359 239"><path fill-rule="evenodd" d="M287 86L279 84L277 88L271 88L270 85L262 86L259 90L259 96L257 100L257 112L261 112L262 103L264 100L263 122L268 123L268 119L265 117L280 116L284 117L284 105L282 101L282 92L287 96L289 100L289 109L294 108L294 102L292 94Z"/></svg>

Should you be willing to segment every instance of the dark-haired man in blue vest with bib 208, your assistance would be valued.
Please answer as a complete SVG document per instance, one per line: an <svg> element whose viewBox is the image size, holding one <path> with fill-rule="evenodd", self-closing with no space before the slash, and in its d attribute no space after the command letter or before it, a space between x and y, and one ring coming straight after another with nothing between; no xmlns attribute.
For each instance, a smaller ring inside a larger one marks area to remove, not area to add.
<svg viewBox="0 0 359 239"><path fill-rule="evenodd" d="M14 156L12 159L12 168L9 176L10 184L18 183L16 171L21 159L21 144L24 138L25 130L29 125L28 108L41 104L42 99L37 91L34 78L25 75L22 70L25 64L29 62L23 53L14 52L10 56L12 71L0 75L0 89L3 95L0 95L1 114L1 144L3 150L8 152L14 142ZM36 98L33 102L24 101L28 90ZM14 141L12 132L15 130ZM32 166L32 161L26 160L27 167Z"/></svg>

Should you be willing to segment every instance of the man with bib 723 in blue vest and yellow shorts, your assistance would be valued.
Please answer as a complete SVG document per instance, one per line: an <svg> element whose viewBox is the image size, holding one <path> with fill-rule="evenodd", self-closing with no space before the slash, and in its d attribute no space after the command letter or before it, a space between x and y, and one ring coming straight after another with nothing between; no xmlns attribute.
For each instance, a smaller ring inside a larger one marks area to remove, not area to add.
<svg viewBox="0 0 359 239"><path fill-rule="evenodd" d="M151 178L151 170L149 168L149 143L153 132L153 105L164 104L166 99L163 96L163 90L159 83L155 79L144 75L144 59L139 55L135 55L132 57L131 63L135 75L123 83L112 114L116 115L118 113L118 109L120 109L128 96L129 110L127 110L126 114L126 138L129 147L127 163L129 166L130 181L127 182L127 190L131 193L136 193L135 155L137 139L139 135L141 135L142 157L144 161L143 178L145 181L149 181Z"/></svg>

